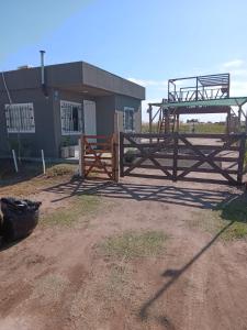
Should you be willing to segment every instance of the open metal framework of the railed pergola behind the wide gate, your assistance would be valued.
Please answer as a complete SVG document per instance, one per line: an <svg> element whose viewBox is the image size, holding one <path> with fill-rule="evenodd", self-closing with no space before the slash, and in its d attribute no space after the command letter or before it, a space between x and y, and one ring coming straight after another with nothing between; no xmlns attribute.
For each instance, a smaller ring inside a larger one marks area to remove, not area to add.
<svg viewBox="0 0 247 330"><path fill-rule="evenodd" d="M179 91L180 98L176 100L171 98L170 95L170 85L175 86L176 81L194 79L194 87L180 87L180 90L192 90L193 99L188 99L182 97ZM213 98L206 98L205 90L204 94L199 94L199 86L205 87L215 87L215 90L221 90L224 88L223 92L217 91ZM202 114L202 113L225 113L226 119L226 133L231 133L231 119L232 114L237 118L237 129L240 130L240 120L242 116L245 118L245 131L247 132L247 111L243 110L244 105L247 103L247 97L229 97L229 74L222 75L209 75L209 76L195 76L195 77L186 77L186 78L176 78L168 80L168 100L164 99L161 102L148 103L149 113L149 132L153 132L153 123L157 117L162 118L165 124L165 133L169 133L169 127L171 117L173 117L173 128L176 131L179 131L179 117L180 114ZM158 107L158 110L153 112L153 107ZM237 113L232 107L237 108ZM160 131L159 131L160 132Z"/></svg>

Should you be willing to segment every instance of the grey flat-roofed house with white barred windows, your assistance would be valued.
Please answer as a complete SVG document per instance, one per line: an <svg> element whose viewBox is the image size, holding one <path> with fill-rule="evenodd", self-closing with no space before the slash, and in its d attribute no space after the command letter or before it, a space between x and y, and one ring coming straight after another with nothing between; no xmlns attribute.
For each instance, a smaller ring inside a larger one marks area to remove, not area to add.
<svg viewBox="0 0 247 330"><path fill-rule="evenodd" d="M145 88L85 62L21 67L0 76L0 156L60 157L81 132L110 135L114 117L141 131Z"/></svg>

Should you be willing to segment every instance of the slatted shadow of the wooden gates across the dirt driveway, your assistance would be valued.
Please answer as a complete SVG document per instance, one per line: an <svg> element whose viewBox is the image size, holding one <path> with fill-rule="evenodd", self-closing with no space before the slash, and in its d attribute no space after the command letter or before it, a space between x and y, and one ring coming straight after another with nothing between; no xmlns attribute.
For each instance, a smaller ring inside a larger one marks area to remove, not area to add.
<svg viewBox="0 0 247 330"><path fill-rule="evenodd" d="M45 191L60 194L60 198L53 202L67 199L76 195L98 195L110 198L134 199L137 201L150 200L180 206L190 206L202 209L213 209L221 202L227 202L238 197L237 193L229 193L226 189L209 189L179 187L172 185L154 184L130 184L112 183L102 180L70 180L55 185Z"/></svg>

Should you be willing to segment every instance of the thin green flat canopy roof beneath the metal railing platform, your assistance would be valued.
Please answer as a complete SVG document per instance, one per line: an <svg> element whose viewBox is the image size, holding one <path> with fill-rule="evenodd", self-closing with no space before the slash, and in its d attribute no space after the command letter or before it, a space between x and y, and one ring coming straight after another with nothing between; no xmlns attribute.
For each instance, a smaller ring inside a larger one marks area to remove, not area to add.
<svg viewBox="0 0 247 330"><path fill-rule="evenodd" d="M169 108L199 108L199 107L240 107L247 102L247 97L231 97L214 100L200 100L200 101L183 101L183 102L161 102L149 103L154 107Z"/></svg>

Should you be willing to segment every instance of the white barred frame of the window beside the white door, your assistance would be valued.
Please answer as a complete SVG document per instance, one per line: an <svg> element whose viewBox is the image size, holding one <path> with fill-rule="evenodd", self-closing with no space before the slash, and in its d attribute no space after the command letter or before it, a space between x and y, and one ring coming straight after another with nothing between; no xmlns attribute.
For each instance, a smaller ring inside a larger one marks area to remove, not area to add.
<svg viewBox="0 0 247 330"><path fill-rule="evenodd" d="M78 131L72 131L72 130L65 130L66 124L69 123L69 117L70 117L70 122L71 122L71 113L70 116L65 113L65 111L69 112L71 111L72 107L77 107L78 109ZM66 123L67 121L67 123ZM61 129L61 135L78 135L83 132L83 116L82 116L82 106L79 102L72 102L72 101L66 101L66 100L60 100L60 129Z"/></svg>

